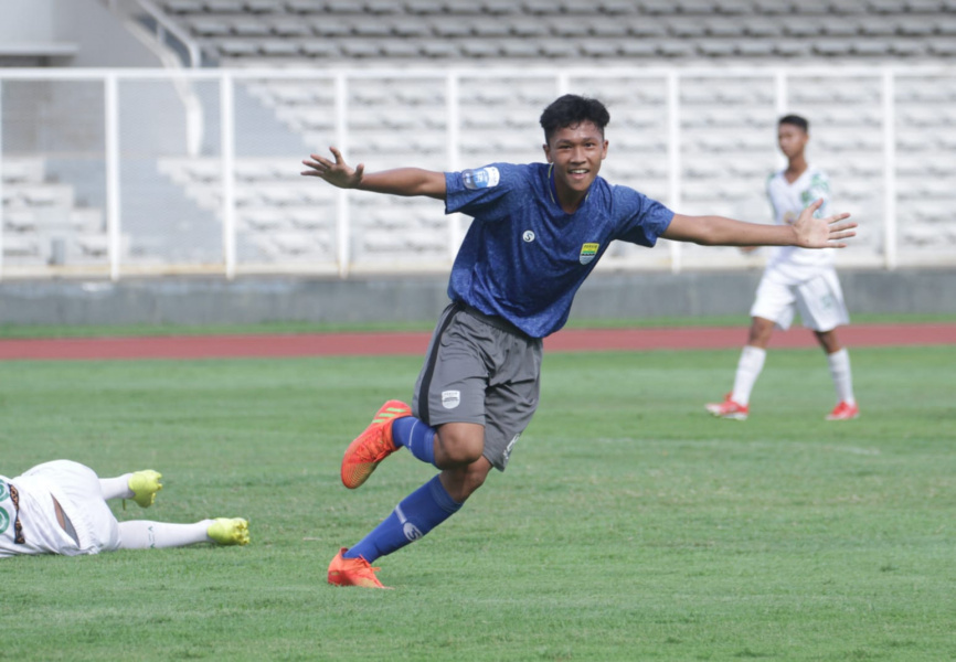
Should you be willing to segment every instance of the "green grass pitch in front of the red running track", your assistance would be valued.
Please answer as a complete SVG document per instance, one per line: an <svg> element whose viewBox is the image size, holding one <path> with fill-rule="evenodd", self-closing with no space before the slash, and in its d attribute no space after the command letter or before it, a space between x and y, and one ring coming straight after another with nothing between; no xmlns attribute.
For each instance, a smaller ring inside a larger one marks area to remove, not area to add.
<svg viewBox="0 0 956 662"><path fill-rule="evenodd" d="M828 424L818 351L771 352L746 423L704 402L739 352L550 354L539 413L463 511L326 568L433 471L355 492L346 444L418 359L0 363L0 473L156 468L117 516L244 515L243 548L0 560L9 660L953 660L956 348L854 350Z"/></svg>

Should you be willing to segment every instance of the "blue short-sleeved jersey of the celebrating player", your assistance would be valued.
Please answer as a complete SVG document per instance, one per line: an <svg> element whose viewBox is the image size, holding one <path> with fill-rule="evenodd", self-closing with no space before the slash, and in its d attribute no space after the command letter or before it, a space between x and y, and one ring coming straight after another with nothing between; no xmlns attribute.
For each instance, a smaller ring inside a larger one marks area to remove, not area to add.
<svg viewBox="0 0 956 662"><path fill-rule="evenodd" d="M445 212L475 218L452 267L448 296L532 338L564 325L574 295L610 242L651 247L673 218L659 202L599 177L569 214L546 163L446 172L445 184Z"/></svg>

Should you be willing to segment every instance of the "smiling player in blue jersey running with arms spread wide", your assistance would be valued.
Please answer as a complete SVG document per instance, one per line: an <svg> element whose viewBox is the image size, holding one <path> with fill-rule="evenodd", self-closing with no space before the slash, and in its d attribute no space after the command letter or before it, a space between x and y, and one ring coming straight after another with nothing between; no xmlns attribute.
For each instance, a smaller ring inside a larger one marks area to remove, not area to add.
<svg viewBox="0 0 956 662"><path fill-rule="evenodd" d="M329 583L384 588L371 564L455 514L492 468L503 471L538 406L542 339L567 320L571 302L612 242L651 247L658 237L714 246L842 247L848 214L793 225L684 216L598 177L607 157L601 102L565 95L541 115L548 163L492 163L463 172L399 168L365 173L331 148L302 174L342 189L445 201L475 218L452 267L452 303L438 319L412 405L386 402L346 450L347 488L365 482L400 447L439 469L362 541L342 547Z"/></svg>

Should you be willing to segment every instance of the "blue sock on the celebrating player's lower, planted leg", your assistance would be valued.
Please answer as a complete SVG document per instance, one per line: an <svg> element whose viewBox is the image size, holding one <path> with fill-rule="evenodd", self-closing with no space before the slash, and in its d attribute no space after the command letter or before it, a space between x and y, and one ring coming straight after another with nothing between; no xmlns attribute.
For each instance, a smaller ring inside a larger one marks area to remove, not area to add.
<svg viewBox="0 0 956 662"><path fill-rule="evenodd" d="M375 526L360 543L342 554L344 558L363 557L373 563L400 549L435 528L458 512L461 504L452 499L439 477L405 496L385 521Z"/></svg>

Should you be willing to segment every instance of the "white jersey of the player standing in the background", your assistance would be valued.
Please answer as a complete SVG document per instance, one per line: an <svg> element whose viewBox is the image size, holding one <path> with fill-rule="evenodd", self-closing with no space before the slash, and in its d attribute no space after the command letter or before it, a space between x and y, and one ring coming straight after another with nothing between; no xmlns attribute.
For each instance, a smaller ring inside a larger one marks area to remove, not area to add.
<svg viewBox="0 0 956 662"><path fill-rule="evenodd" d="M777 225L793 225L815 200L824 199L824 204L814 214L817 218L830 215L830 180L827 174L810 166L794 183L787 181L784 171L767 178L767 197L774 209ZM767 268L819 267L833 264L831 249L800 248L798 246L774 246L767 259Z"/></svg>

